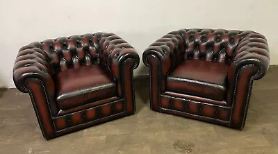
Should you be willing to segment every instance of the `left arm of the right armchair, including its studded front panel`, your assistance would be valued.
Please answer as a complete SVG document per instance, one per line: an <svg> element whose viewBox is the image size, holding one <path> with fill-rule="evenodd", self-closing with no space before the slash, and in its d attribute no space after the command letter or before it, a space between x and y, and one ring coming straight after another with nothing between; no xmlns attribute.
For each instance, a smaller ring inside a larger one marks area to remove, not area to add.
<svg viewBox="0 0 278 154"><path fill-rule="evenodd" d="M179 31L172 31L145 49L142 58L144 64L149 67L152 110L161 110L159 104L161 94L166 90L165 76L184 59L184 47L185 42L179 35Z"/></svg>

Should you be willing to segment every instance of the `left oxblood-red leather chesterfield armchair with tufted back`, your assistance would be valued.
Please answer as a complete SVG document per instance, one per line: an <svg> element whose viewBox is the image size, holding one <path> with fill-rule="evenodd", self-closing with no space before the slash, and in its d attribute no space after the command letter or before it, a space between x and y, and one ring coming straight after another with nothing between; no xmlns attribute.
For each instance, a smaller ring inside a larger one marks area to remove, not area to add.
<svg viewBox="0 0 278 154"><path fill-rule="evenodd" d="M19 49L13 80L51 139L134 114L138 64L133 47L113 33L73 35Z"/></svg>

